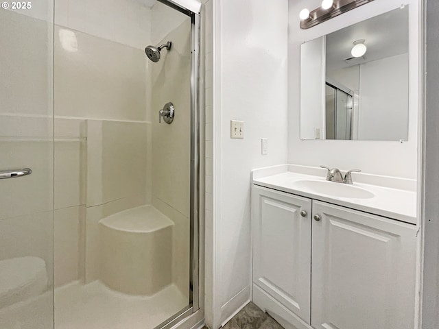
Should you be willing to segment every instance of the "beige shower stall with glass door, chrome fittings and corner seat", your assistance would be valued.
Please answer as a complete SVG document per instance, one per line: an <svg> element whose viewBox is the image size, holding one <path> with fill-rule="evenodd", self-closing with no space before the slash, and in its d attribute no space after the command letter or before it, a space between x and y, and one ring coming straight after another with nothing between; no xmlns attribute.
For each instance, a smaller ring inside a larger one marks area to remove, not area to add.
<svg viewBox="0 0 439 329"><path fill-rule="evenodd" d="M200 308L198 1L0 9L0 328Z"/></svg>

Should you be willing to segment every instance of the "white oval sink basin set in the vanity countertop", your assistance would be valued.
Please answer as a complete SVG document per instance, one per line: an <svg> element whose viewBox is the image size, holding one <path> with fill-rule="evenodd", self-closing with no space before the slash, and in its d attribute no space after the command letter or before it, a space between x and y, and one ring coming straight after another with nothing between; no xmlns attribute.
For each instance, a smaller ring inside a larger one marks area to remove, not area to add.
<svg viewBox="0 0 439 329"><path fill-rule="evenodd" d="M356 186L343 183L327 182L321 180L296 180L292 187L311 193L321 193L333 197L344 197L353 199L370 199L375 195L369 191Z"/></svg>

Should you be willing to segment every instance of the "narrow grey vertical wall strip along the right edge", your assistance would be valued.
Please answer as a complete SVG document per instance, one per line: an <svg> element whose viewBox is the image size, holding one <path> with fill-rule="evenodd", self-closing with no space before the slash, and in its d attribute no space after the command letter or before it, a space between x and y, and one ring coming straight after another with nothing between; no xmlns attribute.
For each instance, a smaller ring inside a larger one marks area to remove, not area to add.
<svg viewBox="0 0 439 329"><path fill-rule="evenodd" d="M425 123L424 123L424 268L422 295L423 329L439 328L439 2L424 1L426 5L426 76Z"/></svg>

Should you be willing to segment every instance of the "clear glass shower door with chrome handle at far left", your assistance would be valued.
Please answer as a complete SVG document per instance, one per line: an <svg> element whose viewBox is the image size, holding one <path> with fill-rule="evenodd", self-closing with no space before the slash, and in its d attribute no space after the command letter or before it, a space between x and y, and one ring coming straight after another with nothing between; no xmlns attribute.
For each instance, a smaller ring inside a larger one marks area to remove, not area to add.
<svg viewBox="0 0 439 329"><path fill-rule="evenodd" d="M54 326L52 17L52 1L5 1L0 9L3 329Z"/></svg>

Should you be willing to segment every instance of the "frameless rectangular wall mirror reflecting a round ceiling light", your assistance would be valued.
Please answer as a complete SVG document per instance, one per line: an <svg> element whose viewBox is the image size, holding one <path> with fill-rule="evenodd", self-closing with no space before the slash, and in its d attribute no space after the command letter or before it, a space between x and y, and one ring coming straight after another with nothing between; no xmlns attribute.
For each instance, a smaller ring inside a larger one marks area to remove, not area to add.
<svg viewBox="0 0 439 329"><path fill-rule="evenodd" d="M300 138L407 141L408 5L300 46Z"/></svg>

